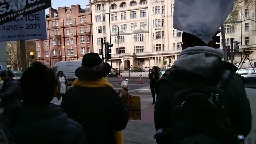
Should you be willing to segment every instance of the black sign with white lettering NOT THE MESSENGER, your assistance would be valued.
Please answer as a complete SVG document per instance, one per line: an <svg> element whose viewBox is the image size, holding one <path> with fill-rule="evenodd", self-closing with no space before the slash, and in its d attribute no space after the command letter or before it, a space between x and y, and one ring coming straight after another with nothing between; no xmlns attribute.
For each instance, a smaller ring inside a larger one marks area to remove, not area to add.
<svg viewBox="0 0 256 144"><path fill-rule="evenodd" d="M0 0L0 25L51 7L51 0Z"/></svg>

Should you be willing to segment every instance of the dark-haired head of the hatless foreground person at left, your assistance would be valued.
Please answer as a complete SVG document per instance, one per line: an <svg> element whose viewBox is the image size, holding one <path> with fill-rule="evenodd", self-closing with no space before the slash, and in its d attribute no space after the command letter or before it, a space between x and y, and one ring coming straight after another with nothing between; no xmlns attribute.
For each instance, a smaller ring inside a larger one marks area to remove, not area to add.
<svg viewBox="0 0 256 144"><path fill-rule="evenodd" d="M20 79L22 99L35 105L50 102L56 86L54 72L40 62L33 63Z"/></svg>

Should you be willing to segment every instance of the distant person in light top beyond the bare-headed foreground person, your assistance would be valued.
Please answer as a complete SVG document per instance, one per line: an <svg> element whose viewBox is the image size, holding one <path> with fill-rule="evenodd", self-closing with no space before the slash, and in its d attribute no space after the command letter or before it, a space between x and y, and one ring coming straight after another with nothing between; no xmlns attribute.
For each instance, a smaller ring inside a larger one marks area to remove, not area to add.
<svg viewBox="0 0 256 144"><path fill-rule="evenodd" d="M58 77L57 77L57 81L58 81L58 94L57 94L57 99L58 101L61 99L63 99L63 97L65 97L65 94L68 90L68 79L67 77L64 75L63 71L59 71L58 72Z"/></svg>

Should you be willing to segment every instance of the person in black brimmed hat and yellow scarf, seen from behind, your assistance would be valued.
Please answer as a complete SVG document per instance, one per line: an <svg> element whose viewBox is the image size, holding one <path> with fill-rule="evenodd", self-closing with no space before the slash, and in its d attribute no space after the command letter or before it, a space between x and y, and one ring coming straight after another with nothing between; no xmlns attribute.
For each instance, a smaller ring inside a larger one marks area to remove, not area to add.
<svg viewBox="0 0 256 144"><path fill-rule="evenodd" d="M66 93L61 108L84 128L89 143L123 143L122 130L128 122L124 102L105 78L111 70L98 53L87 53Z"/></svg>

